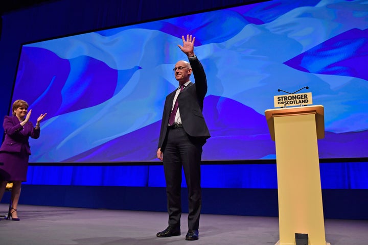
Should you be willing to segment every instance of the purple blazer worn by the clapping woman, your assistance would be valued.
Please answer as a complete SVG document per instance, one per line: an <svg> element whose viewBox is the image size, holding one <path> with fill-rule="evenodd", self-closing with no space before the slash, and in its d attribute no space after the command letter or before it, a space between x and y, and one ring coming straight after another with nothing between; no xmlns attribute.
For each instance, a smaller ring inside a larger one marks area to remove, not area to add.
<svg viewBox="0 0 368 245"><path fill-rule="evenodd" d="M0 147L0 152L19 152L22 146L31 155L31 149L28 142L29 137L37 139L41 130L36 130L31 121L28 121L25 126L21 126L19 119L16 116L5 116L3 123L5 131L5 139Z"/></svg>

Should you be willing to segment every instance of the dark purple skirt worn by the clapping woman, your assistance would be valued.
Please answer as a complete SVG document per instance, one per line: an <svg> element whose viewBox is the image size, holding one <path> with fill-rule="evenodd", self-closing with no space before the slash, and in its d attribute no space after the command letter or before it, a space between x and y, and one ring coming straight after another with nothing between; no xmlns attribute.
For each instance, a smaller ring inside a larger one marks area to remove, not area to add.
<svg viewBox="0 0 368 245"><path fill-rule="evenodd" d="M29 155L21 152L0 152L0 180L27 181ZM3 164L3 165L2 165Z"/></svg>

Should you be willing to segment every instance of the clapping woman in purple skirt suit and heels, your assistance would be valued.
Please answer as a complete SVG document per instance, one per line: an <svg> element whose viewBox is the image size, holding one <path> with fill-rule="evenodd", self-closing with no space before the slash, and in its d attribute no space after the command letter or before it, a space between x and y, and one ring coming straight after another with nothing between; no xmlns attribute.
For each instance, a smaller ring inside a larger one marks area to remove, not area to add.
<svg viewBox="0 0 368 245"><path fill-rule="evenodd" d="M31 155L29 137L37 139L40 135L40 121L45 117L41 114L37 118L36 126L33 127L29 118L27 102L17 100L13 103L13 116L5 116L4 131L5 139L0 147L0 201L3 198L6 185L13 182L11 194L11 209L8 219L19 220L17 206L22 181L27 180L28 159Z"/></svg>

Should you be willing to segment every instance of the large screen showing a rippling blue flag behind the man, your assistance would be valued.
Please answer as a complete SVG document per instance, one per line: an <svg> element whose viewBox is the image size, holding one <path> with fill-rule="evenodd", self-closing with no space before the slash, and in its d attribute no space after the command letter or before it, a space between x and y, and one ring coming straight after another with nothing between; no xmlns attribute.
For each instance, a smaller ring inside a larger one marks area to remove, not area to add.
<svg viewBox="0 0 368 245"><path fill-rule="evenodd" d="M196 37L212 137L202 160L275 159L264 116L278 89L309 86L325 107L320 158L368 157L368 4L269 1L22 46L13 101L31 120L34 163L150 162L177 44ZM239 113L240 111L240 113Z"/></svg>

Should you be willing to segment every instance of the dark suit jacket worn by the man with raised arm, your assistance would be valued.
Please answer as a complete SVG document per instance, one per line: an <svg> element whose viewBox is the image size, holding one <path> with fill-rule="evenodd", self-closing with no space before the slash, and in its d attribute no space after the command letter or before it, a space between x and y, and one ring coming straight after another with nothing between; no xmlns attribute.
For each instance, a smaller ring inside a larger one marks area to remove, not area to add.
<svg viewBox="0 0 368 245"><path fill-rule="evenodd" d="M195 83L188 84L188 86L186 86L177 97L179 102L180 118L183 129L186 133L204 143L206 139L210 138L210 131L202 114L203 100L207 92L207 80L203 66L199 60L195 58L193 60L190 59L189 62L192 66ZM161 148L162 152L165 148L164 142L168 130L169 116L175 93L176 89L166 97L165 101L158 140L158 148Z"/></svg>

